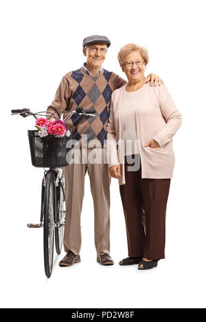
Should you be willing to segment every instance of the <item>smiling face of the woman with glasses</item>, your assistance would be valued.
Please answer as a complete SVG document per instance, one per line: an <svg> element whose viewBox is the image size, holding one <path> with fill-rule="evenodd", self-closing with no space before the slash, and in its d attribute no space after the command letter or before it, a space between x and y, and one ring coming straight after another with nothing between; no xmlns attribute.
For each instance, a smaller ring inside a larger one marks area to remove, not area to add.
<svg viewBox="0 0 206 322"><path fill-rule="evenodd" d="M128 64L131 62L134 64ZM124 71L130 83L140 82L144 79L145 63L139 51L133 51L126 56L122 71Z"/></svg>

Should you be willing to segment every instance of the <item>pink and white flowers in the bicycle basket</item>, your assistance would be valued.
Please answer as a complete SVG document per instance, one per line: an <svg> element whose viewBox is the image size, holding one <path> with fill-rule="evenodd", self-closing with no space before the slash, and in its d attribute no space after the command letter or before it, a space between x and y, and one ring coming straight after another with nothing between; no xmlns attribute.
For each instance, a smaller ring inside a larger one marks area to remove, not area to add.
<svg viewBox="0 0 206 322"><path fill-rule="evenodd" d="M49 135L61 138L62 136L70 136L71 130L67 129L65 122L57 119L56 121L50 121L44 117L40 117L36 120L36 129L38 129L38 135L41 138Z"/></svg>

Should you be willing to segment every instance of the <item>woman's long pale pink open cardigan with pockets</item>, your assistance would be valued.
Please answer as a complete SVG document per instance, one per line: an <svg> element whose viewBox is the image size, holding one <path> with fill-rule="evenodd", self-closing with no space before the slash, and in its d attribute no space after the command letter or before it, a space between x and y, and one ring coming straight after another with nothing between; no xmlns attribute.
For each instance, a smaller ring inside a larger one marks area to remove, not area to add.
<svg viewBox="0 0 206 322"><path fill-rule="evenodd" d="M126 85L118 88L111 96L106 143L109 167L124 163L122 96L125 87ZM136 125L141 158L141 177L171 178L174 169L172 136L181 126L181 113L177 110L164 85L153 87L149 83L144 84L140 89L137 103ZM160 148L144 147L144 144L152 138L159 143ZM119 184L125 184L124 166L121 169Z"/></svg>

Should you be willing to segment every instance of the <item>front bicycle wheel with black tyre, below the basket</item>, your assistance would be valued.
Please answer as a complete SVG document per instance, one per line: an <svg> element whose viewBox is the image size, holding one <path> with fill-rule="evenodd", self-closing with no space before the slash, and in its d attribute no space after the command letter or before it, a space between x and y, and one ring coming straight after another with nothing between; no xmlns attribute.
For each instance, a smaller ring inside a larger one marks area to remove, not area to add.
<svg viewBox="0 0 206 322"><path fill-rule="evenodd" d="M47 174L44 198L44 262L45 274L50 277L54 256L54 223L55 216L55 185L53 173Z"/></svg>

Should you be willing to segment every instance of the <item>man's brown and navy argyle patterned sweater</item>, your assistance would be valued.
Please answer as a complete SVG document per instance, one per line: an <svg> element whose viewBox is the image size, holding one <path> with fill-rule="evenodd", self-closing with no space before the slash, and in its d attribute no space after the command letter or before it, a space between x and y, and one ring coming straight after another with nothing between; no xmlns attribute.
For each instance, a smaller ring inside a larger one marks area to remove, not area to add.
<svg viewBox="0 0 206 322"><path fill-rule="evenodd" d="M82 134L87 145L91 147L104 146L106 140L106 127L108 122L108 108L111 94L117 88L126 84L126 81L113 72L102 69L98 75L89 75L78 69L67 73L60 82L54 101L47 108L50 112L56 112L55 116L60 118L61 110L76 110L78 106L84 109L94 109L95 117L73 114L67 121L67 128L72 129L72 139L82 145ZM64 118L67 116L65 113Z"/></svg>

